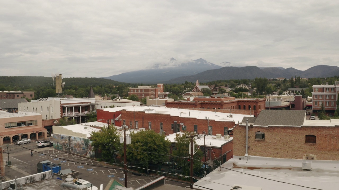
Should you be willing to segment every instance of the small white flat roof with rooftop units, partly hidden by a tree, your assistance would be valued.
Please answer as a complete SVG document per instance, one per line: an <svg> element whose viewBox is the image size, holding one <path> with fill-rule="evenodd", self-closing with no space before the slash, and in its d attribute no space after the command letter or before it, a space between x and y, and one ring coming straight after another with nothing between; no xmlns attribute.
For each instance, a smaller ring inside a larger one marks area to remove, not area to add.
<svg viewBox="0 0 339 190"><path fill-rule="evenodd" d="M174 134L171 134L171 135L165 137L165 139L168 139L172 143L175 143L176 141L174 139L175 139L176 134L182 135L184 133L182 133L182 132L174 133ZM199 136L200 136L199 139L197 137L195 137L195 142L199 146L204 146L204 136L203 135L199 135ZM222 145L224 145L225 143L228 143L232 140L233 140L233 137L230 137L230 139L225 140L224 136L221 136L221 139L217 139L215 135L206 135L205 136L206 146L209 146L209 147L220 148Z"/></svg>

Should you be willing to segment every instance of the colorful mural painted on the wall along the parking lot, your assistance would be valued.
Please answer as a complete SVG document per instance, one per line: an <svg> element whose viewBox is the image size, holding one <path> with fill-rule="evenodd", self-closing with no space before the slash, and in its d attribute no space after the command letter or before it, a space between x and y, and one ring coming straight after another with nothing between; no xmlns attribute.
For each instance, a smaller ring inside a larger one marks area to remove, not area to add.
<svg viewBox="0 0 339 190"><path fill-rule="evenodd" d="M90 139L53 134L53 143L58 150L72 152L84 157L94 157L94 149Z"/></svg>

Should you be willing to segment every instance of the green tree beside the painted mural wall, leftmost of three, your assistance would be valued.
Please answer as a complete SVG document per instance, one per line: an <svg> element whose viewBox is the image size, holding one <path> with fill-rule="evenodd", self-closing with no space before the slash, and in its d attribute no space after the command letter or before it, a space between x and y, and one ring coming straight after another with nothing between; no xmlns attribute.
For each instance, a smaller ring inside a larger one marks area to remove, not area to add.
<svg viewBox="0 0 339 190"><path fill-rule="evenodd" d="M92 132L92 146L101 150L101 159L105 162L116 162L116 153L121 152L121 144L119 141L120 133L114 125L101 127L98 132Z"/></svg>

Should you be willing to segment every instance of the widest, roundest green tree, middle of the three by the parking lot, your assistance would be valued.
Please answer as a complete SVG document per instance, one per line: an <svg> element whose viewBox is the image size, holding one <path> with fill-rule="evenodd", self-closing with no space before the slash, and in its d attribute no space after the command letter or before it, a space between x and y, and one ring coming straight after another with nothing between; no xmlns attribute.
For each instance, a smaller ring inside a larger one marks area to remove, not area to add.
<svg viewBox="0 0 339 190"><path fill-rule="evenodd" d="M144 130L131 133L132 143L126 150L129 162L139 163L140 167L148 169L150 165L156 165L168 161L168 152L171 142L165 140L165 136L154 130Z"/></svg>

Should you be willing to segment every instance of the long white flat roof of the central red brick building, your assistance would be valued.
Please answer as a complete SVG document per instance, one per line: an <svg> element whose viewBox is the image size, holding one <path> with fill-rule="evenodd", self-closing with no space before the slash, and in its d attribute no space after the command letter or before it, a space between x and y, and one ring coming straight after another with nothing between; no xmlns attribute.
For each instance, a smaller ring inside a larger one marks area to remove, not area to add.
<svg viewBox="0 0 339 190"><path fill-rule="evenodd" d="M180 109L180 108L166 108L166 107L152 107L152 106L125 106L118 108L105 108L98 109L104 110L108 112L117 112L120 110L127 111L136 111L136 112L145 112L145 113L156 113L156 114L169 114L171 116L179 116L179 117L189 117L189 118L197 118L197 119L210 119L216 121L234 121L236 123L241 122L243 117L254 117L253 115L243 115L243 114L233 114L233 118L230 118L229 113L221 113L214 112L213 109L211 111L199 111L194 109Z"/></svg>

